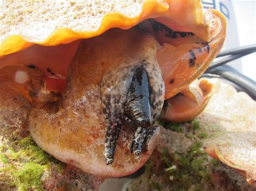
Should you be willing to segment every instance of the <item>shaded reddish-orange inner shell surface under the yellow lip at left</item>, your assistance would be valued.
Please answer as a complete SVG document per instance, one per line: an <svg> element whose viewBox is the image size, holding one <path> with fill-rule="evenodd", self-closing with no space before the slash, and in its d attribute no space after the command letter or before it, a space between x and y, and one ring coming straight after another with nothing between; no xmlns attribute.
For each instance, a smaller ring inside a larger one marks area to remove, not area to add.
<svg viewBox="0 0 256 191"><path fill-rule="evenodd" d="M61 93L65 88L69 64L79 43L80 40L58 46L33 45L23 51L4 56L0 59L1 67L35 65L45 73L46 89Z"/></svg>

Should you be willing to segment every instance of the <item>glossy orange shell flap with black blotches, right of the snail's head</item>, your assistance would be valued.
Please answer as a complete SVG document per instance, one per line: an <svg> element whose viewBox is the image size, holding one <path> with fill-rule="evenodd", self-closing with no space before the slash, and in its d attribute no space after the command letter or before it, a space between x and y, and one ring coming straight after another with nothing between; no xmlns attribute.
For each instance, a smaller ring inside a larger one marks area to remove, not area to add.
<svg viewBox="0 0 256 191"><path fill-rule="evenodd" d="M165 81L165 99L178 94L203 74L223 46L226 20L217 11L212 10L212 12L214 17L218 16L221 20L221 31L210 43L202 44L202 40L198 37L187 36L178 39L175 44L173 40L169 40L158 49L157 60ZM161 41L166 37L162 35L157 39ZM187 39L187 42L184 39ZM194 59L193 62L190 59Z"/></svg>

